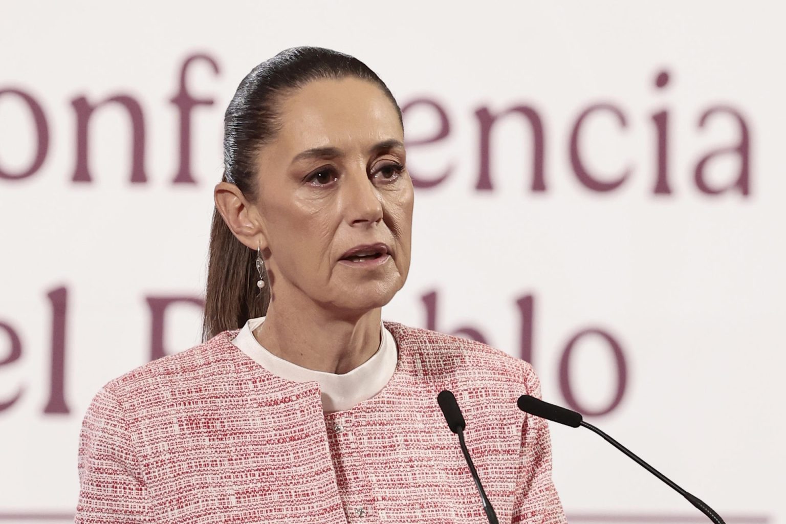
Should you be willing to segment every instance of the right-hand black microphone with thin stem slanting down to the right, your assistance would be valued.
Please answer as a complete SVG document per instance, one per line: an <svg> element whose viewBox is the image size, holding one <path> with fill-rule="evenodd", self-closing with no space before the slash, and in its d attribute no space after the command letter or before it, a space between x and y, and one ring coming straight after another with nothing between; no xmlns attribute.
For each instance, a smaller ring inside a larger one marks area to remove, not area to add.
<svg viewBox="0 0 786 524"><path fill-rule="evenodd" d="M590 431L594 431L595 433L601 435L601 437L603 437L607 442L611 443L616 449L619 449L619 451L625 453L627 456L630 456L631 459L635 460L636 463L641 467L644 467L645 470L649 471L652 473L652 475L655 475L663 482L666 482L667 486L669 486L671 489L674 489L674 491L679 493L682 497L685 497L691 504L696 506L699 511L701 511L704 515L707 515L707 517L709 517L712 522L715 524L725 524L723 519L721 519L721 515L718 515L714 509L707 506L707 504L704 504L703 501L698 497L694 497L685 491L685 489L677 486L677 484L667 478L666 475L663 475L663 473L647 464L644 460L641 460L632 451L630 451L630 449L627 449L624 445L609 437L608 434L605 434L603 431L599 430L597 427L594 427L592 424L584 422L582 420L581 413L571 411L570 409L561 408L558 405L549 404L548 402L544 402L539 398L534 398L529 395L521 395L517 404L519 405L519 409L521 411L529 413L530 415L539 416L542 419L551 420L552 422L565 424L566 426L570 427L583 426Z"/></svg>

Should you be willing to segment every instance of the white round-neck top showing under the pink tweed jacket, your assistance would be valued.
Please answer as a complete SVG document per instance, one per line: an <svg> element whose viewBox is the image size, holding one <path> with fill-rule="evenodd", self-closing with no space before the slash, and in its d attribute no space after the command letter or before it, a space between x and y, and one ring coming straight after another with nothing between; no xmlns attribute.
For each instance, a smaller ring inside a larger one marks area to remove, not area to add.
<svg viewBox="0 0 786 524"><path fill-rule="evenodd" d="M357 368L339 375L303 368L270 353L253 333L264 321L265 317L249 319L232 340L233 345L281 379L299 383L317 382L324 412L346 411L372 398L385 387L395 372L399 354L393 335L383 324L380 324L380 347L376 353Z"/></svg>

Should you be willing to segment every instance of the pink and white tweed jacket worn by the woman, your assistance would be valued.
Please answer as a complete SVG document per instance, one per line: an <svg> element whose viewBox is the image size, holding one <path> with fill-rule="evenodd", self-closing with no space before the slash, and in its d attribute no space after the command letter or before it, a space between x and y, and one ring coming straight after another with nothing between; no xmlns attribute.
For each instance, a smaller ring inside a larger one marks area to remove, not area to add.
<svg viewBox="0 0 786 524"><path fill-rule="evenodd" d="M549 431L516 398L530 365L481 343L385 323L399 363L379 394L322 412L317 383L268 372L222 332L96 395L79 439L75 522L443 522L486 516L437 405L456 394L499 522L566 522Z"/></svg>

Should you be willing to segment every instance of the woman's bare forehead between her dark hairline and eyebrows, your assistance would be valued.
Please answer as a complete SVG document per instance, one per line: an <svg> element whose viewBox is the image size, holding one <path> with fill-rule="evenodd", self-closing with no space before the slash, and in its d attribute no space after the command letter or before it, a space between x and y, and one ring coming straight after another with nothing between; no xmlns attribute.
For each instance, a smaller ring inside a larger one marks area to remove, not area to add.
<svg viewBox="0 0 786 524"><path fill-rule="evenodd" d="M384 91L356 78L309 82L281 102L281 153L307 148L363 148L392 138L403 141L399 114Z"/></svg>

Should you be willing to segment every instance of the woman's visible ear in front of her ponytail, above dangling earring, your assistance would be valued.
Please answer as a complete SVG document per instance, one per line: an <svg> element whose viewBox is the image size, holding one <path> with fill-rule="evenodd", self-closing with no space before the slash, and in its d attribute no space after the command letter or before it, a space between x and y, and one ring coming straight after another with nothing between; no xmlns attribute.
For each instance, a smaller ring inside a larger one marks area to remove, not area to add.
<svg viewBox="0 0 786 524"><path fill-rule="evenodd" d="M254 251L258 247L267 247L259 211L246 200L237 185L220 182L213 190L213 200L215 208L237 240Z"/></svg>

